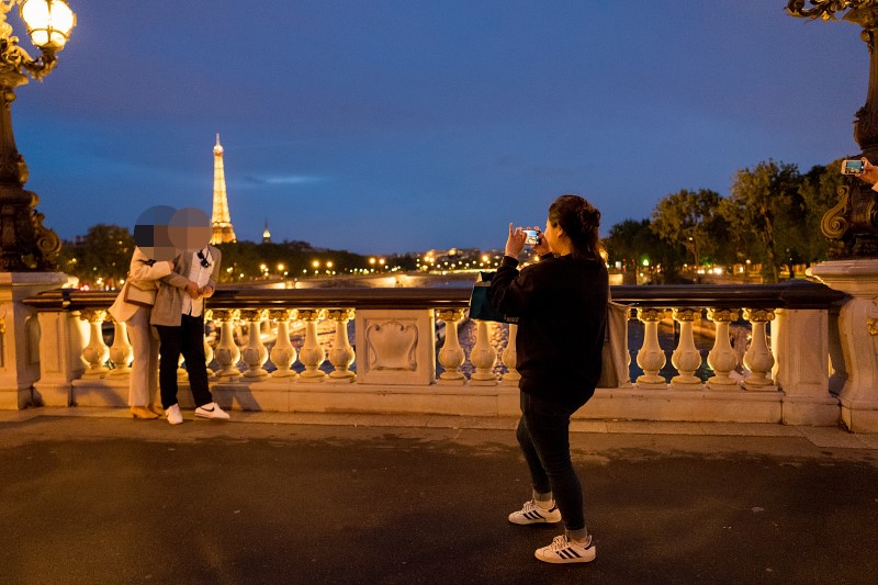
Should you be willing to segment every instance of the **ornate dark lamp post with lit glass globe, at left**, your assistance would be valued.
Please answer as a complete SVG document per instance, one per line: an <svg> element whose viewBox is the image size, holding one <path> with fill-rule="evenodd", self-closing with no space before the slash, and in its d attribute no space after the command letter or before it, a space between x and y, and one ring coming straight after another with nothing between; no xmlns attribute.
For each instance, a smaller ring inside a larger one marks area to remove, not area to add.
<svg viewBox="0 0 878 585"><path fill-rule="evenodd" d="M41 55L32 58L12 35L7 13L19 5L27 34ZM15 148L11 104L15 88L42 79L55 68L76 14L65 0L0 0L0 272L53 270L60 240L43 227L40 198L24 190L27 166Z"/></svg>

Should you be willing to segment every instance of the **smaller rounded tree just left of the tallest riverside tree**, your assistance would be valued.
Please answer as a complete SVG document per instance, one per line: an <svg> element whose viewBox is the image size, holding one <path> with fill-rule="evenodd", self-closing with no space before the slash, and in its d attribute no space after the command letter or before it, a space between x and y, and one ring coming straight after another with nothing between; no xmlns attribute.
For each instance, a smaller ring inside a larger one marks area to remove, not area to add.
<svg viewBox="0 0 878 585"><path fill-rule="evenodd" d="M717 241L711 229L724 228L719 215L720 194L709 189L686 189L665 196L652 213L652 230L663 240L682 244L693 255L695 266L713 251Z"/></svg>

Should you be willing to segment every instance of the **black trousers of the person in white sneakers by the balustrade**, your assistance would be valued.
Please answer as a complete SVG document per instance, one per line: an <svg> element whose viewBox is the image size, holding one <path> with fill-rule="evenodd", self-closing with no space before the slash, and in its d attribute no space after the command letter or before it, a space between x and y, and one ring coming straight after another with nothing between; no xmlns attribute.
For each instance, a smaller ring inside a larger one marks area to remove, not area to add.
<svg viewBox="0 0 878 585"><path fill-rule="evenodd" d="M160 341L158 348L158 385L161 390L161 406L170 408L177 404L177 362L180 353L185 360L189 387L195 406L213 402L207 389L207 363L204 357L204 316L182 315L179 327L156 325Z"/></svg>

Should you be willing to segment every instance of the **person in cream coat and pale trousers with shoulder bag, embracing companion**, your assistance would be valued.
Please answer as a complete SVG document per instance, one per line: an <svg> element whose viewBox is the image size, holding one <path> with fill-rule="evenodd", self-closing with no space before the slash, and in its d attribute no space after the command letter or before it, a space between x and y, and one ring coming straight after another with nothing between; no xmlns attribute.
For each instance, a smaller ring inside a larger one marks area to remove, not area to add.
<svg viewBox="0 0 878 585"><path fill-rule="evenodd" d="M134 248L125 286L137 282L140 288L158 288L156 281L170 274L173 265L147 257L140 248ZM144 286L147 285L147 286ZM134 418L158 418L158 337L149 325L151 310L125 301L125 288L110 307L110 314L119 323L127 324L128 339L134 351L128 383L128 406Z"/></svg>

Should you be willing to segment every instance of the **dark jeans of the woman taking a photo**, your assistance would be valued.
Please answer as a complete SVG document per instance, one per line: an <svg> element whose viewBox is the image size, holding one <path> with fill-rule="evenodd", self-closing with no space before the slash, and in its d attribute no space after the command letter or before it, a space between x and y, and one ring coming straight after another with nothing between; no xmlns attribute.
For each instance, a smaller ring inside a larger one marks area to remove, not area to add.
<svg viewBox="0 0 878 585"><path fill-rule="evenodd" d="M570 460L570 417L576 408L521 392L516 438L530 470L533 491L551 492L567 530L585 528L583 487Z"/></svg>

